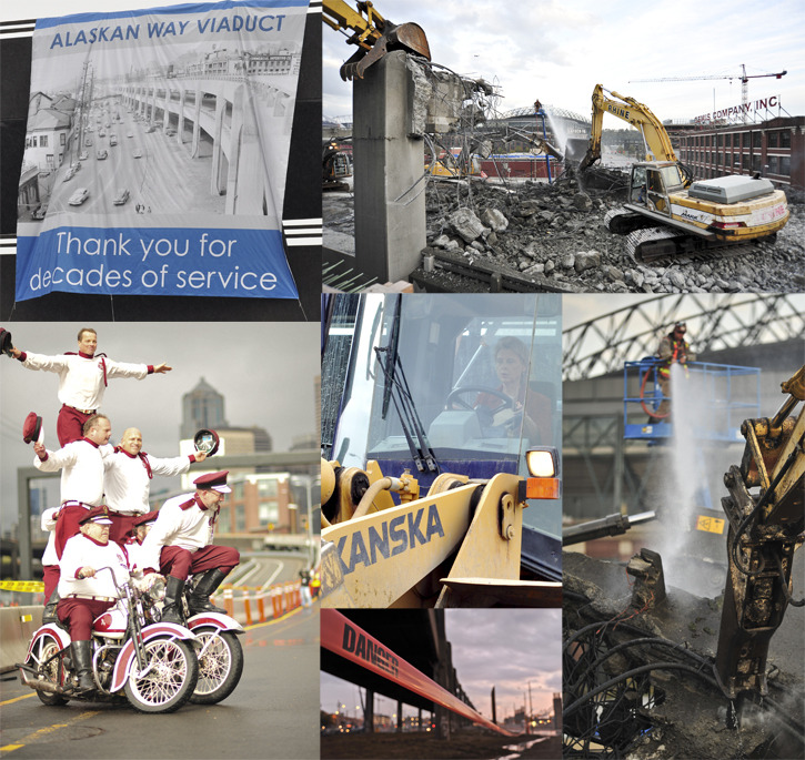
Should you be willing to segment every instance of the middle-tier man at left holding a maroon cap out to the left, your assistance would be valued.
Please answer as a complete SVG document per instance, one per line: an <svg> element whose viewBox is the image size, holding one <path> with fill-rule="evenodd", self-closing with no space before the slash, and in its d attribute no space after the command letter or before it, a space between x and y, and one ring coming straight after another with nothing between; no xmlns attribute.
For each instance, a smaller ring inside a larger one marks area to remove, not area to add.
<svg viewBox="0 0 805 760"><path fill-rule="evenodd" d="M53 548L61 559L68 539L79 531L81 520L92 507L103 501L103 457L111 454L107 446L112 434L109 418L102 414L90 417L84 424L84 437L73 440L58 452L48 450L44 444L33 444L33 464L44 473L61 470L61 508L53 531ZM53 622L56 595L48 598L42 622Z"/></svg>

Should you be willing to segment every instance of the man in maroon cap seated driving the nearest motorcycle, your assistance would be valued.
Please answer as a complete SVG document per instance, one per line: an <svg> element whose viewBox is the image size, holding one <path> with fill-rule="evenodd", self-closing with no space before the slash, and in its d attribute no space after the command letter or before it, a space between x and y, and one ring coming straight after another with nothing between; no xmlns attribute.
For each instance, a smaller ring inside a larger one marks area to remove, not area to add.
<svg viewBox="0 0 805 760"><path fill-rule="evenodd" d="M110 574L98 575L98 570L111 567L117 581L123 582L129 579L129 567L125 550L109 540L112 520L107 507L90 509L80 525L81 533L67 541L59 561L61 600L56 614L70 631L79 690L89 691L95 688L90 649L92 621L113 607L118 597Z"/></svg>

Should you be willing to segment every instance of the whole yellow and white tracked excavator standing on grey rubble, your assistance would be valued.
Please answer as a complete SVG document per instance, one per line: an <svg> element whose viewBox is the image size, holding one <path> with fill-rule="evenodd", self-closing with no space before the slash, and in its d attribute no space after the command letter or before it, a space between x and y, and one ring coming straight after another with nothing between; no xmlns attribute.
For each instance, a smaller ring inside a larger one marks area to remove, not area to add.
<svg viewBox="0 0 805 760"><path fill-rule="evenodd" d="M626 251L637 262L668 259L774 240L788 221L785 193L757 173L694 181L682 164L665 128L648 107L596 84L587 153L578 166L584 172L601 159L605 113L640 130L645 161L634 163L628 202L610 211L607 229L626 235Z"/></svg>

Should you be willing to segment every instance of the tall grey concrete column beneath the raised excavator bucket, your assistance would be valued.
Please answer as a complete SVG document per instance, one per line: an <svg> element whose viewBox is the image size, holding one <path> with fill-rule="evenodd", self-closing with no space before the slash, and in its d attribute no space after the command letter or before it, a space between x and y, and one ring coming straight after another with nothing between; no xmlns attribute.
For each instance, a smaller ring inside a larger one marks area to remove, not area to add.
<svg viewBox="0 0 805 760"><path fill-rule="evenodd" d="M405 55L384 55L353 88L355 263L380 282L407 280L425 246L424 144L411 136Z"/></svg>

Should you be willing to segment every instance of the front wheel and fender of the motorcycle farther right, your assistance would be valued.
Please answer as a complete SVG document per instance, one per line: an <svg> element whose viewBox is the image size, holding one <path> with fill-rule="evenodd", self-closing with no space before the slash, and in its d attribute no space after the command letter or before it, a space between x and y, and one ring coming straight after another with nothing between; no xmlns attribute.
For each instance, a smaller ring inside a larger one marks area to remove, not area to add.
<svg viewBox="0 0 805 760"><path fill-rule="evenodd" d="M195 577L188 581L182 597L183 617L200 642L195 652L199 660L199 682L190 701L197 705L215 705L234 691L243 673L243 648L238 636L245 631L229 615L190 615L189 599L200 577Z"/></svg>

